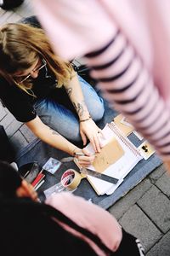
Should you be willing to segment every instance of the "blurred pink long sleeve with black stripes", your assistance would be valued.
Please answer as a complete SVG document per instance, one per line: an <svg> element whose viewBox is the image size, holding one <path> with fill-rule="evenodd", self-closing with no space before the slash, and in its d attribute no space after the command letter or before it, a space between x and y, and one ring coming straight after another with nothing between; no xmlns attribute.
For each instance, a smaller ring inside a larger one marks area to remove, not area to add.
<svg viewBox="0 0 170 256"><path fill-rule="evenodd" d="M136 130L170 159L170 113L143 61L117 30L110 42L88 53L91 76L99 81L103 96L123 113Z"/></svg>

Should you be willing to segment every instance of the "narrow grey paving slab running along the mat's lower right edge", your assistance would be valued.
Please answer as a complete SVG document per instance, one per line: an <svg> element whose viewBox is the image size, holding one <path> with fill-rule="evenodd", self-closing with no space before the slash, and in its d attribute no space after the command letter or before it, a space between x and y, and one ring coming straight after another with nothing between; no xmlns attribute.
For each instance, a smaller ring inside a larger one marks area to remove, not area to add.
<svg viewBox="0 0 170 256"><path fill-rule="evenodd" d="M135 188L130 190L126 196L123 196L121 200L117 201L112 207L109 208L109 212L113 214L117 219L121 218L122 215L127 212L129 207L135 204L144 193L150 189L151 183L146 178L144 181L139 183Z"/></svg>

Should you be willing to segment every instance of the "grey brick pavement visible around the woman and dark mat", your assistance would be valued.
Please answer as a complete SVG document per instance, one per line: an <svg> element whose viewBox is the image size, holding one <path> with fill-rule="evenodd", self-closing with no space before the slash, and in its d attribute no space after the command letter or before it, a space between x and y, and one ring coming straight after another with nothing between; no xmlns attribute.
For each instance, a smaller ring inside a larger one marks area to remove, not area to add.
<svg viewBox="0 0 170 256"><path fill-rule="evenodd" d="M34 15L30 1L25 0L12 11L0 9L0 25ZM25 147L35 137L0 104L3 125L15 150ZM170 255L170 177L161 165L108 210L122 227L138 236L146 256Z"/></svg>

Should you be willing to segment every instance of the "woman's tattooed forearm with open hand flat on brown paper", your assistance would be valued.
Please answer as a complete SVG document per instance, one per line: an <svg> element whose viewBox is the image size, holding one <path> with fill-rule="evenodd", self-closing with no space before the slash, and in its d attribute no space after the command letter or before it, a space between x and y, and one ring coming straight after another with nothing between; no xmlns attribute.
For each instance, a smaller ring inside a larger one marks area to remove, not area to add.
<svg viewBox="0 0 170 256"><path fill-rule="evenodd" d="M88 137L89 141L94 147L94 151L100 152L101 145L99 144L98 133L101 133L101 130L90 117L88 107L86 106L84 97L82 95L82 89L77 78L77 73L74 73L71 81L64 86L80 120L80 134L83 145L86 145Z"/></svg>

